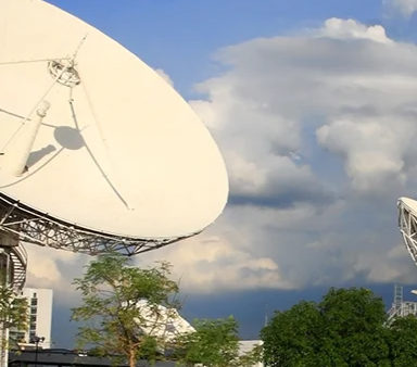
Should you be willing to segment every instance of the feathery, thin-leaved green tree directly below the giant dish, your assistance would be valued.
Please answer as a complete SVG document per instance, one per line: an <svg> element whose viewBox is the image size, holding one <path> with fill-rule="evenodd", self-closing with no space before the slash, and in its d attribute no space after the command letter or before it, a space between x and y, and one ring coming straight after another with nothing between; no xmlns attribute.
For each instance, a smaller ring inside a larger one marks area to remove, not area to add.
<svg viewBox="0 0 417 367"><path fill-rule="evenodd" d="M101 355L122 355L132 367L139 358L155 358L157 336L152 334L161 318L161 307L178 306L178 286L170 280L169 266L128 266L129 260L116 254L92 261L83 278L74 280L81 292L81 305L73 308L72 319L84 321L78 346L93 345Z"/></svg>

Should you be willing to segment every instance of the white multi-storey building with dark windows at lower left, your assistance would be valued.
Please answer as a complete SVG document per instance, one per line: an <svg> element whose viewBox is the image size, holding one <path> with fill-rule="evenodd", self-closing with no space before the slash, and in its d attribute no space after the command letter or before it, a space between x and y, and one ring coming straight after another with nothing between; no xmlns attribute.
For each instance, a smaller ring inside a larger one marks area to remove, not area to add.
<svg viewBox="0 0 417 367"><path fill-rule="evenodd" d="M22 295L28 302L27 330L11 330L11 337L24 349L51 347L52 290L24 288Z"/></svg>

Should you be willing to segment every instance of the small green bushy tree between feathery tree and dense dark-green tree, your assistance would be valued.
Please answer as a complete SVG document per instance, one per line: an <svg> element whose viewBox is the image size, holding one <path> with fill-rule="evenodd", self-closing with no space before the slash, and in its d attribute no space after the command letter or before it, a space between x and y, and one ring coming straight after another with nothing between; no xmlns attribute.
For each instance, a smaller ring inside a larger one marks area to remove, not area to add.
<svg viewBox="0 0 417 367"><path fill-rule="evenodd" d="M225 319L197 319L195 332L177 340L182 364L202 364L206 367L230 367L238 358L238 324L232 316Z"/></svg>

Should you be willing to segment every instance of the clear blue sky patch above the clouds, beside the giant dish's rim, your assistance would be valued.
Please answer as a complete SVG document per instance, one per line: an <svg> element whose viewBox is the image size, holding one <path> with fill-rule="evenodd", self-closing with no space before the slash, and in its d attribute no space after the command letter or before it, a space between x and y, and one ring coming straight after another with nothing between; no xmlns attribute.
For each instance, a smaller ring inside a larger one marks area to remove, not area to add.
<svg viewBox="0 0 417 367"><path fill-rule="evenodd" d="M332 16L380 23L381 2L180 0L49 1L111 35L155 68L185 97L213 74L222 47L316 26Z"/></svg>

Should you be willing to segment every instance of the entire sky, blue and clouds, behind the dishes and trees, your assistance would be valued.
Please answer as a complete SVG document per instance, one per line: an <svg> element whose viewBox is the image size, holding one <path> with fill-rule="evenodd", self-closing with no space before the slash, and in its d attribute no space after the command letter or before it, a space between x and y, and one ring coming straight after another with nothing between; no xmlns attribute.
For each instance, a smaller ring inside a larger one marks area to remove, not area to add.
<svg viewBox="0 0 417 367"><path fill-rule="evenodd" d="M416 0L48 2L164 75L225 157L215 224L134 260L173 264L187 319L232 314L255 339L265 316L329 287L389 306L396 282L413 300L396 200L417 189ZM90 257L27 250L27 286L54 290L54 345L72 347L71 282Z"/></svg>

